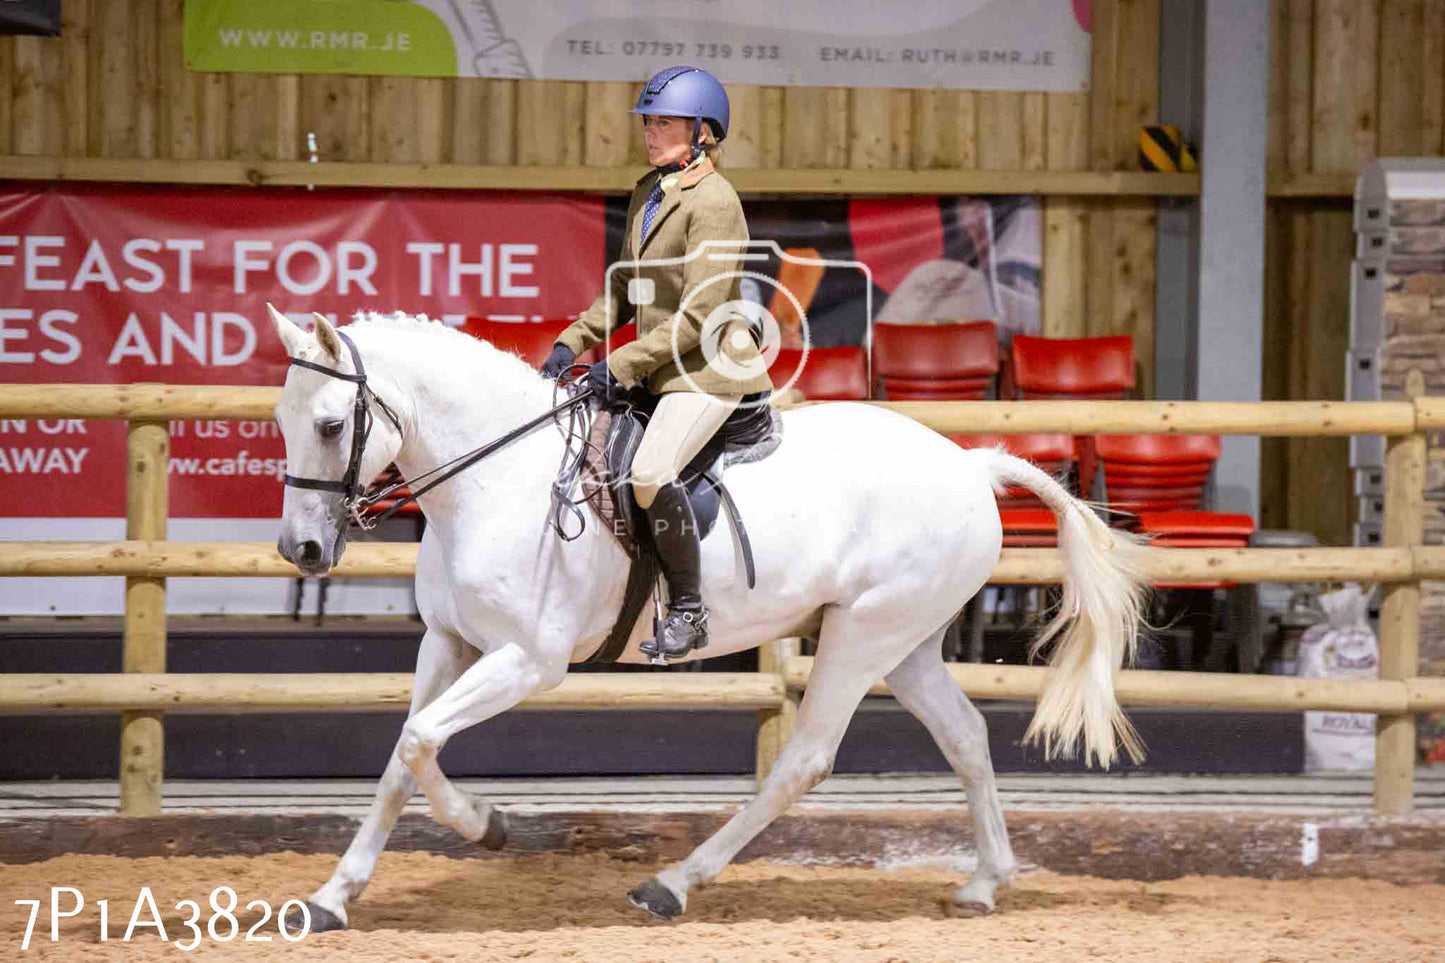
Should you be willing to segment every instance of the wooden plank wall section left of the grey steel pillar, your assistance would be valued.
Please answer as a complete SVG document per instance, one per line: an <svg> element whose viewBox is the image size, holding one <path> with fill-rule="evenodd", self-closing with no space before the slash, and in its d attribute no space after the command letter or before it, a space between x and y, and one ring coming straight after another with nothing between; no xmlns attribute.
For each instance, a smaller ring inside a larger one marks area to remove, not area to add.
<svg viewBox="0 0 1445 963"><path fill-rule="evenodd" d="M731 87L734 168L1137 169L1159 0L1095 0L1081 94ZM192 74L184 0L64 0L64 36L0 38L0 153L646 163L634 84ZM1155 202L1045 201L1043 327L1127 333L1153 379Z"/></svg>

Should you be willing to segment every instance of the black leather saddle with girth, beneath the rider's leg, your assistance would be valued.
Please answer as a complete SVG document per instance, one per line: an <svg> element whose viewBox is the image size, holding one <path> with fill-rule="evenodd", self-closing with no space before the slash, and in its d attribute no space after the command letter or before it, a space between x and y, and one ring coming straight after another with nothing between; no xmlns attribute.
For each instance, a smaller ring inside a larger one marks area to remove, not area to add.
<svg viewBox="0 0 1445 963"><path fill-rule="evenodd" d="M728 521L737 532L749 588L757 580L753 545L743 516L722 483L722 473L733 464L762 461L782 444L783 422L777 411L766 403L767 395L769 392L746 395L744 403L728 415L678 476L692 502L699 539L707 538L717 523L720 509L727 508ZM621 613L607 641L587 658L588 664L617 661L657 581L657 555L652 545L647 513L637 505L631 489L633 455L637 454L657 401L637 386L624 392L618 403L598 411L592 421L591 444L582 470L584 497L631 557L631 568L627 573Z"/></svg>

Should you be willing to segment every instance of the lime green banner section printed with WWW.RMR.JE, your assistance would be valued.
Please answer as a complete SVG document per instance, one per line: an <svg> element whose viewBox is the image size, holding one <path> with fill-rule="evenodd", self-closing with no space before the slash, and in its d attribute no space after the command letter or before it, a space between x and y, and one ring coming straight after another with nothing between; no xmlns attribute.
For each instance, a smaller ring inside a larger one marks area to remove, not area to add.
<svg viewBox="0 0 1445 963"><path fill-rule="evenodd" d="M185 59L214 72L457 75L447 25L397 0L186 0Z"/></svg>

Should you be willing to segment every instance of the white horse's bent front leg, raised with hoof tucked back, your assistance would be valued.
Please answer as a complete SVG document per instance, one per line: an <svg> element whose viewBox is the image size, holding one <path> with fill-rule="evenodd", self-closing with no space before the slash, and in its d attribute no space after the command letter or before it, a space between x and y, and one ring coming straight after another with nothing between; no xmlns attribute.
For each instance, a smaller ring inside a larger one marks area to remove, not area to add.
<svg viewBox="0 0 1445 963"><path fill-rule="evenodd" d="M420 782L438 823L471 842L484 842L488 831L500 829L500 816L493 813L491 804L454 787L436 765L436 753L462 729L512 709L527 696L553 688L565 675L565 659L543 662L520 645L504 645L484 655L426 709L406 720L396 752Z"/></svg>

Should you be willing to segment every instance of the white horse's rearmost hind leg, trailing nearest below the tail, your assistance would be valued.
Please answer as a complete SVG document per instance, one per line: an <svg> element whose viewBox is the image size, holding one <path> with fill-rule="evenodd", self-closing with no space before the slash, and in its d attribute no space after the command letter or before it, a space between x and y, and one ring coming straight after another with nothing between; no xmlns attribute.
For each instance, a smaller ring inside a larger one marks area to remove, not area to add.
<svg viewBox="0 0 1445 963"><path fill-rule="evenodd" d="M994 889L1007 885L1017 863L1009 846L1009 829L998 805L988 730L980 713L944 667L938 639L913 649L889 672L889 687L903 706L932 733L948 763L964 781L974 817L978 866L949 904L954 915L980 915L994 907Z"/></svg>

